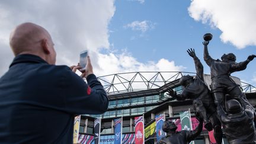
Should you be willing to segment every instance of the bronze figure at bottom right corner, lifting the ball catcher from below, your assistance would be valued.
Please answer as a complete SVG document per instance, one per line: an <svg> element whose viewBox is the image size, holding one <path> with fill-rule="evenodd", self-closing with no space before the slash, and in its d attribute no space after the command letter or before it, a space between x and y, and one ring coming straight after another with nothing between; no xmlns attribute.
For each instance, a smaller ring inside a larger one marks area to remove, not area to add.
<svg viewBox="0 0 256 144"><path fill-rule="evenodd" d="M222 121L226 137L230 144L256 143L254 129L254 108L247 100L241 98L241 104L236 100L226 102L225 112L218 104L217 112Z"/></svg>

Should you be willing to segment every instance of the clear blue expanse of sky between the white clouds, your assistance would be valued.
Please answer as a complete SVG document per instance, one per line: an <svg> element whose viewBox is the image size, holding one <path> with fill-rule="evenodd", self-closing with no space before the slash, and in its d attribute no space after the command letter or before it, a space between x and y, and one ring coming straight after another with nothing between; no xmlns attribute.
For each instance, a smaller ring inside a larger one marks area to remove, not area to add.
<svg viewBox="0 0 256 144"><path fill-rule="evenodd" d="M223 53L234 53L237 62L246 60L248 55L255 54L255 46L238 49L232 43L220 40L222 31L212 27L210 23L195 21L188 14L191 1L116 1L116 12L109 24L110 43L115 49L127 49L139 62L159 59L174 60L175 65L185 66L184 71L194 72L193 59L187 55L190 47L196 50L197 56L204 65L204 72L210 73L203 60L203 35L212 33L213 40L209 44L209 53L215 59L220 59ZM133 21L149 21L152 28L145 32L126 28ZM249 63L242 72L233 73L248 82L255 75L255 63ZM254 83L255 84L255 83Z"/></svg>

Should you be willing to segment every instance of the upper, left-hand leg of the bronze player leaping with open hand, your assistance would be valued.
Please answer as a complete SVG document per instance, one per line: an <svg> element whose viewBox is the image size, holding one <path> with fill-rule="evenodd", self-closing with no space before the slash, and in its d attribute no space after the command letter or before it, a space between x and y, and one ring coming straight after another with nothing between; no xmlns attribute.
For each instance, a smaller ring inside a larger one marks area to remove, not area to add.
<svg viewBox="0 0 256 144"><path fill-rule="evenodd" d="M209 119L207 118L206 108L203 106L203 102L201 100L194 100L193 107L196 109L197 114L203 119L204 127L211 131L213 129L212 123L210 123Z"/></svg>

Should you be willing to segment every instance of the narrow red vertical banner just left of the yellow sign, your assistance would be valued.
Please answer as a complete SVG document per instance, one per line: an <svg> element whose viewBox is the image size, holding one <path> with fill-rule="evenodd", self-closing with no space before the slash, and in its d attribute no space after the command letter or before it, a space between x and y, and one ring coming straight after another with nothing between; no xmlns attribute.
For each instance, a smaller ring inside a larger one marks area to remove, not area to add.
<svg viewBox="0 0 256 144"><path fill-rule="evenodd" d="M144 144L144 116L135 117L135 143Z"/></svg>

